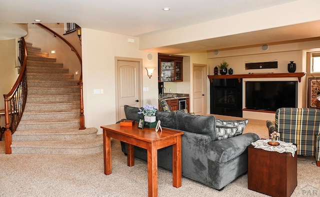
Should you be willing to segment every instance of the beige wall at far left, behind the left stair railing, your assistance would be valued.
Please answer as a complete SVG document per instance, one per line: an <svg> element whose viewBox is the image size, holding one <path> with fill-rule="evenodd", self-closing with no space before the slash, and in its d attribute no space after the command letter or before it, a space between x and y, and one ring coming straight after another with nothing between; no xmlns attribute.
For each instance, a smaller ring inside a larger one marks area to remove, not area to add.
<svg viewBox="0 0 320 197"><path fill-rule="evenodd" d="M17 39L0 40L0 109L4 108L3 94L9 93L18 77L16 65L20 65L17 59ZM4 118L1 116L0 126L4 126Z"/></svg>

